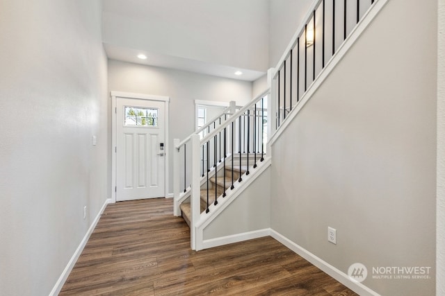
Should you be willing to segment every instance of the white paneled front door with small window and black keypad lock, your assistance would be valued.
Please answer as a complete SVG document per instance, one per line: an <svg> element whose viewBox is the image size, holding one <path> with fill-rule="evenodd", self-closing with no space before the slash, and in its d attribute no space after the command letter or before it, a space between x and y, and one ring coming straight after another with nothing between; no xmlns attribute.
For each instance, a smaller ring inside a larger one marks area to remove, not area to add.
<svg viewBox="0 0 445 296"><path fill-rule="evenodd" d="M116 98L116 201L165 197L165 102Z"/></svg>

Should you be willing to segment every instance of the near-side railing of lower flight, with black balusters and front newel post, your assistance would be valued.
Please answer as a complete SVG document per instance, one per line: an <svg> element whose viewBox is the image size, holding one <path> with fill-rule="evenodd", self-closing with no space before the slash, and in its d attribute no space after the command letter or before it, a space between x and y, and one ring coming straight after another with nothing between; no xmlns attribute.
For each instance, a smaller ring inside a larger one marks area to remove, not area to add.
<svg viewBox="0 0 445 296"><path fill-rule="evenodd" d="M227 191L234 190L236 186L243 181L243 175L239 173L237 180L234 180L234 170L238 166L244 166L245 159L245 175L250 174L250 170L257 168L258 162L264 161L267 143L267 98L270 94L268 89L263 94L254 98L244 107L241 107L235 114L229 116L217 128L214 128L206 134L202 139L198 134L191 137L191 238L192 249L196 247L196 230L195 225L200 222L204 215L208 215L213 207L216 207L220 198L227 196ZM218 147L222 148L222 157L218 155ZM213 149L212 149L213 148ZM202 151L207 159L213 159L213 164L207 162L207 168L204 167L204 177L201 171ZM235 155L238 159L235 159ZM253 159L250 159L252 157ZM218 166L219 163L219 166ZM231 179L227 180L227 170L231 170ZM213 171L212 171L213 170ZM223 192L218 193L214 190L214 196L210 196L211 181L223 180ZM204 181L204 182L203 182ZM228 184L227 184L228 181ZM206 206L201 212L200 200L201 189L204 186L206 192ZM213 199L214 198L214 199Z"/></svg>

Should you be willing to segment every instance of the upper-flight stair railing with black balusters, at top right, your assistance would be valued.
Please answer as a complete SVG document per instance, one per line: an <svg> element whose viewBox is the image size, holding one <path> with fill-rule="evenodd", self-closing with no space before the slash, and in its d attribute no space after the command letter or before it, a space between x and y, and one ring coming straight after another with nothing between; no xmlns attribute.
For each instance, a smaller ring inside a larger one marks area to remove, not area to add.
<svg viewBox="0 0 445 296"><path fill-rule="evenodd" d="M289 117L348 35L377 1L314 1L273 73L273 132Z"/></svg>

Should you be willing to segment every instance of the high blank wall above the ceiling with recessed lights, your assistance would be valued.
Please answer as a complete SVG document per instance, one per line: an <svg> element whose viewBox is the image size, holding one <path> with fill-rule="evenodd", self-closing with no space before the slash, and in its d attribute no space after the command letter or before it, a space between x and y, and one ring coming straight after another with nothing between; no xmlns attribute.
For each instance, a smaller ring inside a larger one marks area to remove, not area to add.
<svg viewBox="0 0 445 296"><path fill-rule="evenodd" d="M268 0L107 0L104 42L266 71Z"/></svg>

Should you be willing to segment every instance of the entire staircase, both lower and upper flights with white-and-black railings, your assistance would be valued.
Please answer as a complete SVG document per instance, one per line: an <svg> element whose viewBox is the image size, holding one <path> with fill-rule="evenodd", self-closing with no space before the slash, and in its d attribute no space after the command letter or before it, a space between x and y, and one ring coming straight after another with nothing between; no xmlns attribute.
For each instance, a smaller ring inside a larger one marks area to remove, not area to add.
<svg viewBox="0 0 445 296"><path fill-rule="evenodd" d="M191 136L175 139L174 214L191 227L193 250L211 247L203 243L204 227L270 166L266 150L270 154L270 145L386 1L314 1L277 66L269 69L264 94L244 107L231 102Z"/></svg>

